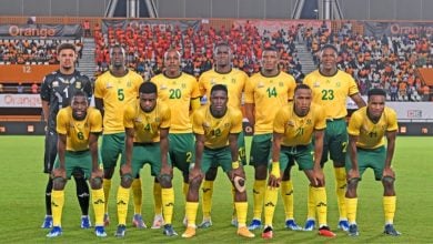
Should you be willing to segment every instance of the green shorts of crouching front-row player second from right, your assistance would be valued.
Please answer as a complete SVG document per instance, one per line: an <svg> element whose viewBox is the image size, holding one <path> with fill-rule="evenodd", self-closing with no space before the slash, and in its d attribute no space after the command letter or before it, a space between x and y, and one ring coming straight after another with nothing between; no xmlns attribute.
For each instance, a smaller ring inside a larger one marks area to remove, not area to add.
<svg viewBox="0 0 433 244"><path fill-rule="evenodd" d="M280 151L280 170L285 171L288 167L294 166L296 161L299 170L313 170L314 167L314 149L310 143L308 145L284 146L281 145Z"/></svg>

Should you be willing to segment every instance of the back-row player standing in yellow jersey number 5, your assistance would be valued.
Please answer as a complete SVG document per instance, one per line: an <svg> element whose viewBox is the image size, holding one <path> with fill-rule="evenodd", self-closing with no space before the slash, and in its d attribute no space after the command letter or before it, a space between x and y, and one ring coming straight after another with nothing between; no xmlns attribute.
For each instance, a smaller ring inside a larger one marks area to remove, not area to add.
<svg viewBox="0 0 433 244"><path fill-rule="evenodd" d="M109 225L108 199L111 189L111 179L119 155L124 149L123 110L133 105L137 101L139 87L143 79L125 67L125 51L120 45L110 50L111 68L100 75L94 87L94 104L103 116L103 136L101 156L103 163L103 192L105 194L104 223ZM134 199L134 215L132 224L144 228L145 224L141 216L142 191L141 180L138 175L132 182Z"/></svg>

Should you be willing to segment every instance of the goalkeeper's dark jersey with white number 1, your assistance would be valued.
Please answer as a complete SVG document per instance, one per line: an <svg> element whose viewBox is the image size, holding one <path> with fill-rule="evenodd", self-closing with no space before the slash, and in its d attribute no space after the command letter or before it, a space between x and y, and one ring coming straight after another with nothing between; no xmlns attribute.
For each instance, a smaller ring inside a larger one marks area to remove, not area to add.
<svg viewBox="0 0 433 244"><path fill-rule="evenodd" d="M41 99L49 102L48 128L56 131L56 116L60 109L70 105L70 99L78 90L84 91L89 95L89 102L92 96L92 84L90 79L79 71L72 74L62 74L54 71L43 78L41 85Z"/></svg>

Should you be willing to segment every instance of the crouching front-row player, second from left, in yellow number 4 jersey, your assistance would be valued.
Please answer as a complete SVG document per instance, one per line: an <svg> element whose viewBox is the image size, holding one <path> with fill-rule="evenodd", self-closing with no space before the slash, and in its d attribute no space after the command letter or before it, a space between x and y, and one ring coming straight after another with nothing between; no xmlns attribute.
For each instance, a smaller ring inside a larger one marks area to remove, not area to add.
<svg viewBox="0 0 433 244"><path fill-rule="evenodd" d="M172 225L174 191L172 169L169 165L170 108L157 102L157 85L144 82L139 89L140 99L124 109L123 124L127 131L125 153L122 154L121 183L118 190L119 225L115 236L123 237L127 228L129 192L134 179L145 163L162 187L164 234L178 235Z"/></svg>

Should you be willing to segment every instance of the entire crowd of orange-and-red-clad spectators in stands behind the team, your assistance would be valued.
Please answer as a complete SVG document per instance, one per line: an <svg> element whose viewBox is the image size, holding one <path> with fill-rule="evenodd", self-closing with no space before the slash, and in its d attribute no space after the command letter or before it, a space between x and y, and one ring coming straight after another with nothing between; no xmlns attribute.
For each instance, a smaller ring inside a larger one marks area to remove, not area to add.
<svg viewBox="0 0 433 244"><path fill-rule="evenodd" d="M88 26L85 28L89 29ZM295 42L305 43L315 64L319 64L321 45L332 43L340 50L339 69L353 75L361 94L365 95L371 88L382 88L389 92L391 101L430 100L429 85L415 73L416 68L433 68L433 35L425 33L366 37L352 31L349 21L334 31L330 31L323 22L320 28L298 24L275 32L260 32L249 21L244 26L222 26L219 30L212 27L204 29L202 26L183 31L178 26L144 26L140 29L128 26L125 29L109 28L103 32L97 24L93 31L95 77L108 70L109 49L115 43L125 48L129 68L138 71L144 79L150 79L162 72L163 53L169 48L177 48L182 54L181 65L184 72L199 77L213 67L214 44L226 42L233 52L233 67L250 75L259 72L263 49L276 48L281 54L280 69L301 82L304 74ZM85 35L89 35L89 31ZM0 40L0 63L54 64L56 49L60 42ZM82 42L74 42L81 57ZM17 89L17 92L19 91ZM28 85L24 91L34 90Z"/></svg>

